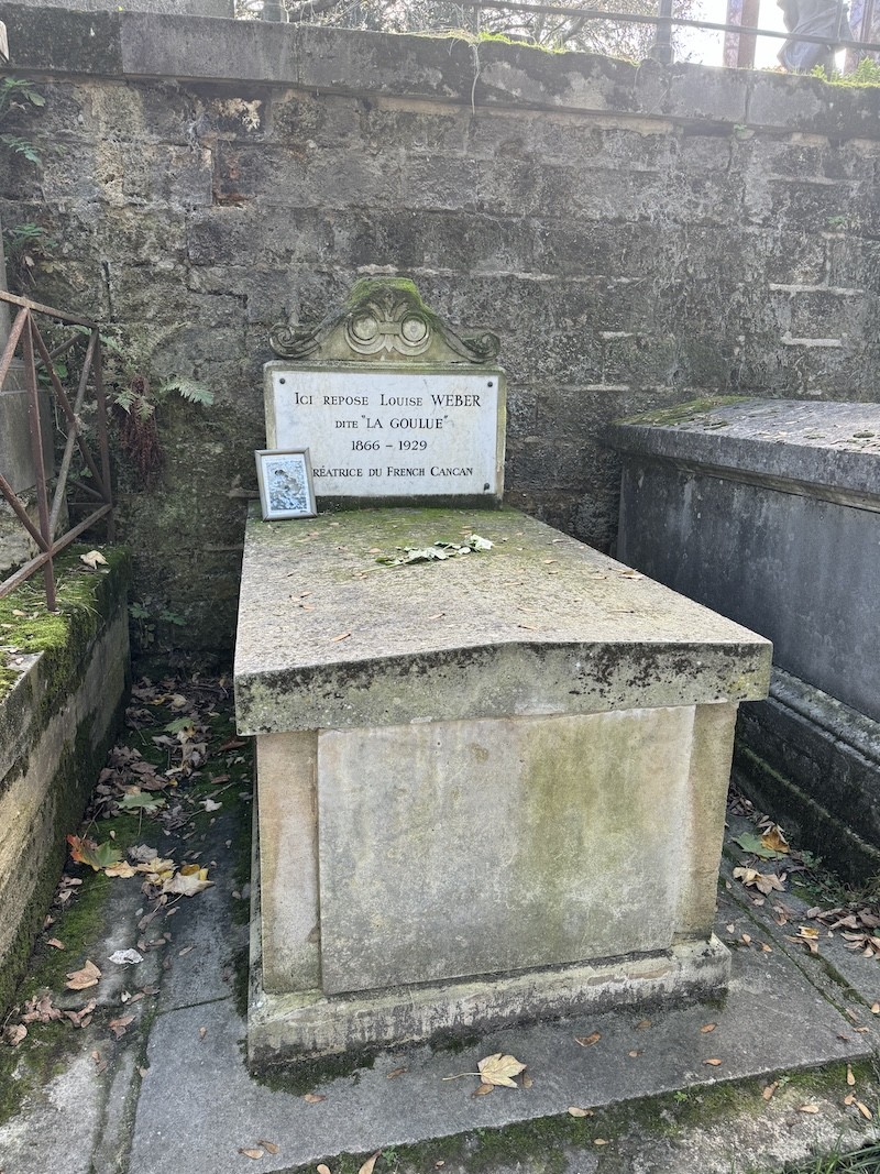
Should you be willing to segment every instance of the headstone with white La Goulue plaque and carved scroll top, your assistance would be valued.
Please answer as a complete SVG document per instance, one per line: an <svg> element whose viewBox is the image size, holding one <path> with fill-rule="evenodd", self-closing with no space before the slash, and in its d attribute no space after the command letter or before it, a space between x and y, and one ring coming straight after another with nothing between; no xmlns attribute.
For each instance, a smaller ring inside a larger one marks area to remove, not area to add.
<svg viewBox="0 0 880 1174"><path fill-rule="evenodd" d="M500 504L494 335L456 335L409 282L364 279L341 313L270 342L283 358L265 369L266 443L309 447L319 504Z"/></svg>

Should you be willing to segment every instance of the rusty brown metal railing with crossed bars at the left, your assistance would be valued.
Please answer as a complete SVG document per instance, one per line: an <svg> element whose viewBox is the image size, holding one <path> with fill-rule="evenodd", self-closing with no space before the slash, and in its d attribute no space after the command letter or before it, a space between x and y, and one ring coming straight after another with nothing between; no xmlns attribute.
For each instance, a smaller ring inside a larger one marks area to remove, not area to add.
<svg viewBox="0 0 880 1174"><path fill-rule="evenodd" d="M69 546L70 542L75 541L84 531L101 521L101 519L106 519L108 541L113 541L114 537L110 454L107 444L107 403L104 399L101 365L101 337L96 323L89 322L86 318L63 313L61 310L54 310L52 306L40 305L38 302L15 297L15 295L4 291L0 291L0 302L7 303L11 312L15 309L18 310L12 321L6 348L0 357L0 396L11 394L13 391L20 394L22 390L27 394L31 457L35 473L38 511L38 522L34 524L18 493L15 493L9 481L4 477L2 470L0 470L0 492L38 547L38 554L0 581L0 598L8 595L9 592L14 591L26 579L29 579L31 575L42 568L46 583L46 606L50 612L54 612L56 608L56 592L53 559L55 555ZM73 330L68 337L60 342L54 342L50 349L40 331L36 322L38 317L49 318L62 329L73 328ZM84 348L84 355L82 357L82 370L80 372L76 394L73 403L70 403L70 398L56 375L55 364L62 356L69 355L77 346ZM19 352L23 365L23 389L6 387L9 371L14 369L13 360L16 352ZM57 477L54 478L55 486L52 500L49 500L49 483L53 480L54 470L47 473L43 457L45 437L40 414L41 372L43 373L46 390L50 394L54 394L59 416L66 424L67 432ZM46 379L48 379L48 383L46 383ZM97 443L97 460L87 443L82 419L83 404L89 387L94 394L95 403L94 437ZM90 504L95 505L95 508L92 510L87 518L56 537L55 531L67 501L67 481L70 473L70 465L74 452L77 448L92 480L90 485L81 481L79 490L87 498L92 499Z"/></svg>

